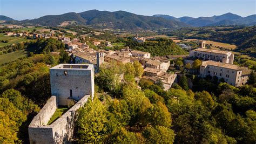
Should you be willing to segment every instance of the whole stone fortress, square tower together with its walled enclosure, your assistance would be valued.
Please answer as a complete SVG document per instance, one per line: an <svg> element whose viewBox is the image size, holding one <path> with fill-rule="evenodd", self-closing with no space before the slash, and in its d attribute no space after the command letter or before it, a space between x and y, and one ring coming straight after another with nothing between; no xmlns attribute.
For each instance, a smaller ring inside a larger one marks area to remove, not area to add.
<svg viewBox="0 0 256 144"><path fill-rule="evenodd" d="M94 95L91 64L59 64L50 68L52 97L29 125L30 143L69 143L72 141L76 111ZM70 109L48 125L58 106Z"/></svg>

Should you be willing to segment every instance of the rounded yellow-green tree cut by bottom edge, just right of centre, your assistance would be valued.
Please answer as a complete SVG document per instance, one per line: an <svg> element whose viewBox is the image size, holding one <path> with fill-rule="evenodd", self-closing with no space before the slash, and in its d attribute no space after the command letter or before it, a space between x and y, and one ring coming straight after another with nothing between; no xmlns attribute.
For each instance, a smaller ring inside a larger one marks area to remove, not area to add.
<svg viewBox="0 0 256 144"><path fill-rule="evenodd" d="M174 132L164 126L147 127L143 131L147 143L173 143Z"/></svg>

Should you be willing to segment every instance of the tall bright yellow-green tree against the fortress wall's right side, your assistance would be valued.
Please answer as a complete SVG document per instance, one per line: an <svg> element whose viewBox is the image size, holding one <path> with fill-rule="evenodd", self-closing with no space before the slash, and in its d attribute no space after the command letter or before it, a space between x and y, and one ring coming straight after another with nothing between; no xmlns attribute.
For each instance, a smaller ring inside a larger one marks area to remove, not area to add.
<svg viewBox="0 0 256 144"><path fill-rule="evenodd" d="M107 131L106 107L96 98L89 99L85 106L79 108L76 121L79 143L100 142Z"/></svg>

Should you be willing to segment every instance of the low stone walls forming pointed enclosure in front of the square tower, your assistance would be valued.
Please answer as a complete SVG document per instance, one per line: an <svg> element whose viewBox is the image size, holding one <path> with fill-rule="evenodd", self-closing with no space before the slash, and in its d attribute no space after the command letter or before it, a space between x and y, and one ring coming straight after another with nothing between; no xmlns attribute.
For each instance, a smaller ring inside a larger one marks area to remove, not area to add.
<svg viewBox="0 0 256 144"><path fill-rule="evenodd" d="M73 136L74 125L75 125L74 122L76 120L76 111L78 108L84 106L85 102L88 100L89 97L90 95L85 95L75 105L73 105L68 110L68 112L63 114L59 119L57 119L51 125L41 125L38 116L45 115L46 117L51 118L52 114L55 112L55 111L53 111L53 113L50 112L48 108L48 107L56 106L56 97L52 96L48 100L46 105L41 109L41 111L35 116L31 124L29 125L30 143L69 143ZM50 113L47 115L46 112L50 112ZM47 124L48 121L47 122L44 121L45 124Z"/></svg>

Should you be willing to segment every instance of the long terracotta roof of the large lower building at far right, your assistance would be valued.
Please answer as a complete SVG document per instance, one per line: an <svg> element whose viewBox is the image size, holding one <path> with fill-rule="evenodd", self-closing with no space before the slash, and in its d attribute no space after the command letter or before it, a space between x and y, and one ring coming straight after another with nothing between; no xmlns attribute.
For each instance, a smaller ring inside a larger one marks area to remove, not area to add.
<svg viewBox="0 0 256 144"><path fill-rule="evenodd" d="M221 62L212 61L212 60L203 61L203 64L201 66L206 67L207 65L219 66L219 67L229 68L229 69L238 70L238 71L241 70L241 68L237 65L221 63Z"/></svg>

